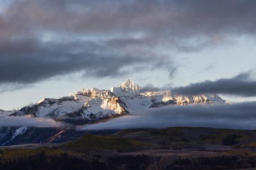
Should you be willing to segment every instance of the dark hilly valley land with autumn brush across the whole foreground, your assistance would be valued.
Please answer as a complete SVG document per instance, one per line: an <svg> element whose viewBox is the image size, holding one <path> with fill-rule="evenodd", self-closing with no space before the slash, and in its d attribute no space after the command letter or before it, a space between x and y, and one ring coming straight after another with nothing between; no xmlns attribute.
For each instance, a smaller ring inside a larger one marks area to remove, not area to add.
<svg viewBox="0 0 256 170"><path fill-rule="evenodd" d="M58 169L61 163L61 169L253 169L255 134L204 127L124 129L61 144L1 146L0 167Z"/></svg>

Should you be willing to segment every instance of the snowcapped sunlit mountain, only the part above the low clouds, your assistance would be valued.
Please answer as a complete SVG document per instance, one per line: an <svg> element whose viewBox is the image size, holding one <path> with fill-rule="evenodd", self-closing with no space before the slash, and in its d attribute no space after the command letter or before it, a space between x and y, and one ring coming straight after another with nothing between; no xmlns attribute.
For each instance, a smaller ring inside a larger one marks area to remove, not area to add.
<svg viewBox="0 0 256 170"><path fill-rule="evenodd" d="M141 92L142 89L131 80L126 80L122 85L108 90L82 89L72 96L42 99L31 107L21 108L12 116L29 114L33 117L49 117L72 124L86 124L167 105L226 102L217 95L174 96L171 91Z"/></svg>

